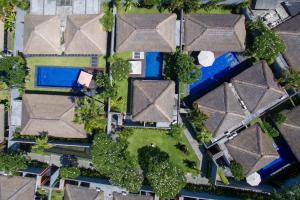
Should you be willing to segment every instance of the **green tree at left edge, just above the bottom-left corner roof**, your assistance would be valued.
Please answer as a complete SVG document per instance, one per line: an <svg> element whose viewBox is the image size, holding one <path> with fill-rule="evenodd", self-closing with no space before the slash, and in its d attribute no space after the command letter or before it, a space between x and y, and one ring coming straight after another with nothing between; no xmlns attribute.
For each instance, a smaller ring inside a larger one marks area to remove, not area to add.
<svg viewBox="0 0 300 200"><path fill-rule="evenodd" d="M15 174L19 170L27 168L27 160L21 154L0 153L0 171L7 174Z"/></svg>

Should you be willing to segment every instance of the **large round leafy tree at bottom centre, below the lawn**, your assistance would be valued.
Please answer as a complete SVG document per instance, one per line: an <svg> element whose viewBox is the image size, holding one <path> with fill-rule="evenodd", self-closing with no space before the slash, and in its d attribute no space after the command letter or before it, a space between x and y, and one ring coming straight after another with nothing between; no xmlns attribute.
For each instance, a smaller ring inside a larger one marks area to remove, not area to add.
<svg viewBox="0 0 300 200"><path fill-rule="evenodd" d="M174 198L186 184L184 173L170 161L157 163L147 173L147 179L160 198Z"/></svg>

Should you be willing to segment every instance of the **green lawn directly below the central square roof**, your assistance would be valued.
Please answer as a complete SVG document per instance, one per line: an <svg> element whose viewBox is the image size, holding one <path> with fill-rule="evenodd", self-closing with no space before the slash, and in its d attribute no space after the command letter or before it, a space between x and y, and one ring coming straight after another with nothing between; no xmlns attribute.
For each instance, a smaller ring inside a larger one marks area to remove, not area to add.
<svg viewBox="0 0 300 200"><path fill-rule="evenodd" d="M199 169L191 169L186 166L184 160L191 160L196 162L196 166L200 165L196 154L194 153L190 143L185 135L180 135L179 138L173 138L166 134L166 130L158 129L133 129L133 134L128 138L128 151L130 155L138 159L138 149L154 144L162 151L169 154L171 161L184 170L185 173L199 174ZM186 145L189 154L185 154L176 148L176 144L180 142Z"/></svg>

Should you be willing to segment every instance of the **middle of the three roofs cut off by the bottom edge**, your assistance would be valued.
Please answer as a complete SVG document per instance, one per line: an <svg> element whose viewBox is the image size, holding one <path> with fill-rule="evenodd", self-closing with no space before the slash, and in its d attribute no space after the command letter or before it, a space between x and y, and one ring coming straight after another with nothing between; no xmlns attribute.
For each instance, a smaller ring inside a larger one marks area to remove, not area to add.
<svg viewBox="0 0 300 200"><path fill-rule="evenodd" d="M75 185L66 185L65 200L104 200L103 192L94 189L78 187Z"/></svg>

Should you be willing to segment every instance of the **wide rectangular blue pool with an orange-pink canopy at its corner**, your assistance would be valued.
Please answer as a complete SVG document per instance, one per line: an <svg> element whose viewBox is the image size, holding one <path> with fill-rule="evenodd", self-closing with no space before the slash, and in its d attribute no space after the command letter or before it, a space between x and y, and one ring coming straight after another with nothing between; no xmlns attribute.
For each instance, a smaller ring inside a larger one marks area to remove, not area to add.
<svg viewBox="0 0 300 200"><path fill-rule="evenodd" d="M79 67L36 67L36 86L77 88L77 79L80 74Z"/></svg>

